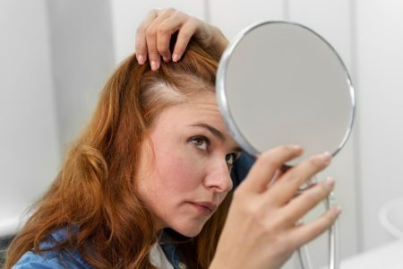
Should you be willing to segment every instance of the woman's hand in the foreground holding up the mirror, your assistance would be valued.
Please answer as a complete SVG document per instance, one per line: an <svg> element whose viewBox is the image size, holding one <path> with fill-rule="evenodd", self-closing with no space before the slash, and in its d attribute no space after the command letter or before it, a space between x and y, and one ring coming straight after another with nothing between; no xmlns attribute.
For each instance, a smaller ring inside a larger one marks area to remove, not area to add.
<svg viewBox="0 0 403 269"><path fill-rule="evenodd" d="M286 145L258 158L236 189L210 268L279 268L296 248L336 221L339 207L311 223L297 224L334 187L334 180L328 178L296 196L299 187L326 168L331 157L325 152L279 173L284 163L302 152L299 146Z"/></svg>

